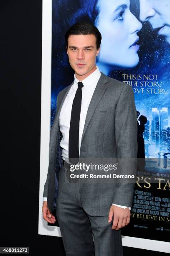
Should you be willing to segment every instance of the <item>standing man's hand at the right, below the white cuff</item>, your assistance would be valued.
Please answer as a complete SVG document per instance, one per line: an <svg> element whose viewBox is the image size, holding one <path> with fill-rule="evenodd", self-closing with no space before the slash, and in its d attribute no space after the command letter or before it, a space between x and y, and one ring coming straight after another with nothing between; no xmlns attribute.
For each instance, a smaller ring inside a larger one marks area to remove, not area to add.
<svg viewBox="0 0 170 256"><path fill-rule="evenodd" d="M114 217L114 218L113 218ZM110 223L113 218L112 229L119 230L129 224L130 210L129 207L123 209L116 205L112 205L109 210L108 222Z"/></svg>

